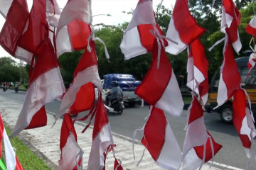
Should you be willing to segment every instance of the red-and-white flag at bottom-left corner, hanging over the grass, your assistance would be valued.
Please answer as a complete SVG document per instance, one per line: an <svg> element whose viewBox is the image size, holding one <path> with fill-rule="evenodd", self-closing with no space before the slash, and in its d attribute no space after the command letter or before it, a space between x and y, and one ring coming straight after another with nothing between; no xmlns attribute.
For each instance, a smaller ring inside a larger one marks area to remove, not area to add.
<svg viewBox="0 0 256 170"><path fill-rule="evenodd" d="M2 158L2 143L4 141L4 153L7 169L23 170L23 167L18 162L18 158L14 152L14 148L11 146L11 142L4 128L4 123L0 114L0 159Z"/></svg>

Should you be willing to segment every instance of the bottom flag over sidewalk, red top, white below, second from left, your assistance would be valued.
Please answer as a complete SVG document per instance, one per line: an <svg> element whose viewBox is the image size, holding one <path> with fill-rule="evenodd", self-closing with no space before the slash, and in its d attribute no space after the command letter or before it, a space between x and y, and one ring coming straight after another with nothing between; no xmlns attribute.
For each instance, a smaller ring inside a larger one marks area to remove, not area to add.
<svg viewBox="0 0 256 170"><path fill-rule="evenodd" d="M60 161L58 169L77 169L82 161L82 149L78 146L77 134L75 132L71 115L65 113L60 131ZM78 157L80 156L80 157Z"/></svg>

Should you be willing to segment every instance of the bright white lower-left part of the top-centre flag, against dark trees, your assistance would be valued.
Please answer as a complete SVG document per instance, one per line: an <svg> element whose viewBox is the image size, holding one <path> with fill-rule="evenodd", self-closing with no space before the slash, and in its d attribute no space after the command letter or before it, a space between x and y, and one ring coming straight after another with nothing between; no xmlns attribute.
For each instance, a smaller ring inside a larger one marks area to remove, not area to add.
<svg viewBox="0 0 256 170"><path fill-rule="evenodd" d="M137 27L129 30L123 37L120 44L122 53L125 60L129 60L132 57L143 55L147 52L146 48L140 41L139 31Z"/></svg>

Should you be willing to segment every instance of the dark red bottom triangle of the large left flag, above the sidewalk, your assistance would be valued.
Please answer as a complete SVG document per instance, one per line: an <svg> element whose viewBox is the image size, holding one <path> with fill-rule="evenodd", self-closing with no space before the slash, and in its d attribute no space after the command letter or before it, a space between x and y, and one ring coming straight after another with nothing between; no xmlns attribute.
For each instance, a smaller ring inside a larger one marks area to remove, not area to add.
<svg viewBox="0 0 256 170"><path fill-rule="evenodd" d="M45 106L41 107L40 110L33 115L31 122L25 129L40 128L47 125L47 115Z"/></svg>

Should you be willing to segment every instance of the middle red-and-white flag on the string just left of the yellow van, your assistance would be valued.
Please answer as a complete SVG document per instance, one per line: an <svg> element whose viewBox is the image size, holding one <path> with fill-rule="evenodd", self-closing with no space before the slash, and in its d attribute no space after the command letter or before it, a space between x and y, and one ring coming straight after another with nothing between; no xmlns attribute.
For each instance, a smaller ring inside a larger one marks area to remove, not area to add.
<svg viewBox="0 0 256 170"><path fill-rule="evenodd" d="M203 103L208 100L208 60L204 47L200 40L196 39L191 43L191 49L188 53L187 64L187 86L200 96Z"/></svg>

